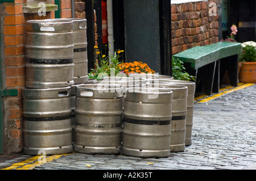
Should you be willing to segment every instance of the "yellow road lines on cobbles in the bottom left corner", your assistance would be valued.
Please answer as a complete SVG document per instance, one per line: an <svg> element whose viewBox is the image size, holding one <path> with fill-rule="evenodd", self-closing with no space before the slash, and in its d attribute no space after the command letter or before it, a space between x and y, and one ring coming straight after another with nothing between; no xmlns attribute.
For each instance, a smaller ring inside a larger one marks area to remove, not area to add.
<svg viewBox="0 0 256 181"><path fill-rule="evenodd" d="M72 154L72 153L68 153ZM0 170L32 170L37 166L43 165L44 163L48 163L53 161L53 159L58 159L61 156L65 156L68 154L59 154L59 155L51 155L51 156L46 156L46 155L36 155L35 157L26 159L25 161L19 162L19 163L14 163L13 165L6 167L5 169L0 169ZM43 160L43 161L42 161Z"/></svg>

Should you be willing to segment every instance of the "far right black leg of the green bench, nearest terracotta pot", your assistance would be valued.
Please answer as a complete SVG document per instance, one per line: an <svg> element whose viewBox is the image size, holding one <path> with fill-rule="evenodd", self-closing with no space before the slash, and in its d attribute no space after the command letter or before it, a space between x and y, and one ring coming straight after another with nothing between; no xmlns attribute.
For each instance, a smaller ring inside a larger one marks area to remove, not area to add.
<svg viewBox="0 0 256 181"><path fill-rule="evenodd" d="M229 57L228 75L231 86L238 86L238 54Z"/></svg>

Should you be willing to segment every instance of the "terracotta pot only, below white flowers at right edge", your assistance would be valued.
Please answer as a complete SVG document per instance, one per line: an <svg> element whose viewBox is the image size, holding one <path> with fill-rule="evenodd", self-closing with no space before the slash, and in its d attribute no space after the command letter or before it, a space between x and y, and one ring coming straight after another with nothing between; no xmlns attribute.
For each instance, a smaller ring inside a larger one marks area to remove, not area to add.
<svg viewBox="0 0 256 181"><path fill-rule="evenodd" d="M242 63L239 80L243 83L256 83L256 62Z"/></svg>

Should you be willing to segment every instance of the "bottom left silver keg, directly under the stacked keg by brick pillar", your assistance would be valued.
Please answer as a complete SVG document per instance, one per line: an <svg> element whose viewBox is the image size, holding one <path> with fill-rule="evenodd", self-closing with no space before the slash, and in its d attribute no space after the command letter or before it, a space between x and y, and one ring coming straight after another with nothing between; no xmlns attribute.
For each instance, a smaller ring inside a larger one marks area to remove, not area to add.
<svg viewBox="0 0 256 181"><path fill-rule="evenodd" d="M71 153L71 87L23 89L24 154Z"/></svg>

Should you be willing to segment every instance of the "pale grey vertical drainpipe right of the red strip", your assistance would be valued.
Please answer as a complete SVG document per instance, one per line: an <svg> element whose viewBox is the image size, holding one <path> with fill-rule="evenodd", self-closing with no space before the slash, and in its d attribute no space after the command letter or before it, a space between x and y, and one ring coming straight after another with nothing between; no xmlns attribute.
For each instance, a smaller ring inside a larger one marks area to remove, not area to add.
<svg viewBox="0 0 256 181"><path fill-rule="evenodd" d="M108 20L108 43L109 55L114 55L114 28L113 28L113 7L112 0L106 1L107 6L107 20Z"/></svg>

